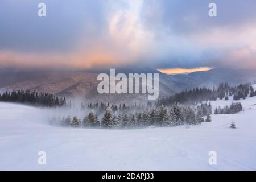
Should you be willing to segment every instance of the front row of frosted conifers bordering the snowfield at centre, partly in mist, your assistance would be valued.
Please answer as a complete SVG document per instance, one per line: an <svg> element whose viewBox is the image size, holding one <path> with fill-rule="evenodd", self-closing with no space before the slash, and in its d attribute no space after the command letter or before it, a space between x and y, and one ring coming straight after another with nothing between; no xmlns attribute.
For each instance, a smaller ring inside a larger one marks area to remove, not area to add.
<svg viewBox="0 0 256 182"><path fill-rule="evenodd" d="M210 104L204 104L197 108L174 104L171 107L161 105L137 112L113 111L109 106L101 119L95 111L90 111L83 119L77 116L51 119L52 124L65 127L85 127L103 129L134 129L144 127L171 127L179 125L199 125L202 122L211 122L212 113ZM206 118L204 119L204 116Z"/></svg>

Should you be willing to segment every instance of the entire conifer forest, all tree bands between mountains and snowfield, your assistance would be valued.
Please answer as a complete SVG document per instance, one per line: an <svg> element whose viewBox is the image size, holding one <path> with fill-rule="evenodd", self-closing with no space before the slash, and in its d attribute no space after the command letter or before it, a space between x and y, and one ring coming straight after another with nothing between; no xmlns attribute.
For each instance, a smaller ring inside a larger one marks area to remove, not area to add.
<svg viewBox="0 0 256 182"><path fill-rule="evenodd" d="M143 127L170 127L179 125L198 125L210 122L212 106L208 101L219 99L245 99L256 95L250 84L229 86L228 83L219 84L218 88L195 88L161 98L146 105L134 104L113 105L106 102L89 103L87 107L81 102L81 110L90 110L83 118L64 116L53 118L53 125L65 127L86 127L105 129L133 129ZM0 94L0 101L17 102L42 107L71 108L71 102L62 97L49 93L37 93L30 90L16 90ZM235 114L242 110L240 102L234 102L224 108L216 108L214 114ZM100 116L100 117L98 117Z"/></svg>

